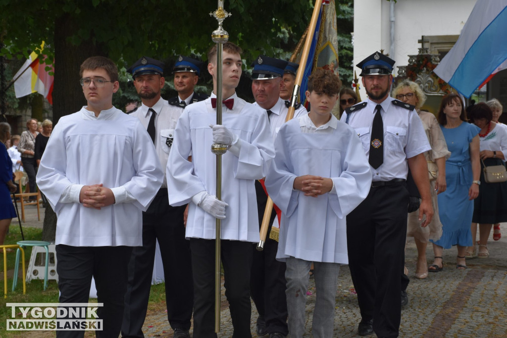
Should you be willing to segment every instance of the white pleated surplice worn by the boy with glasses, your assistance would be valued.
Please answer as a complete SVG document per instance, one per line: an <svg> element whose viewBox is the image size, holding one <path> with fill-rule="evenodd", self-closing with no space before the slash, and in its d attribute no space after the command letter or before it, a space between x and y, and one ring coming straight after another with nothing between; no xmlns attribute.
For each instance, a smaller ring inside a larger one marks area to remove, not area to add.
<svg viewBox="0 0 507 338"><path fill-rule="evenodd" d="M164 174L138 119L113 107L98 117L84 107L58 121L41 159L37 184L58 217L56 244L142 245L146 211ZM83 185L102 183L115 204L100 210L79 203Z"/></svg>

